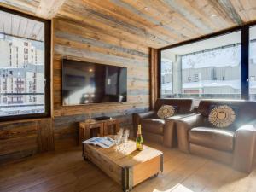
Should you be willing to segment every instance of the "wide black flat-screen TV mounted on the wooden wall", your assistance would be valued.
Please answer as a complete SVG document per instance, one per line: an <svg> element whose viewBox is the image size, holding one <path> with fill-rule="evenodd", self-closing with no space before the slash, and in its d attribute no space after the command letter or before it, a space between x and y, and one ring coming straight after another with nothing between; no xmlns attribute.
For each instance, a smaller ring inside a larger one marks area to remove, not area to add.
<svg viewBox="0 0 256 192"><path fill-rule="evenodd" d="M63 60L63 105L126 101L126 67Z"/></svg>

